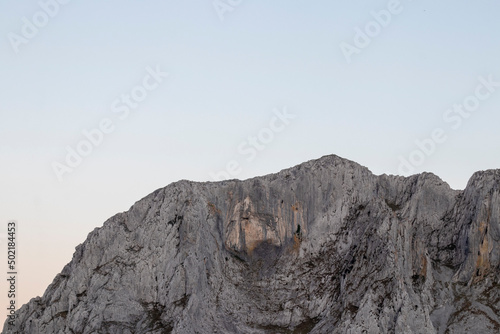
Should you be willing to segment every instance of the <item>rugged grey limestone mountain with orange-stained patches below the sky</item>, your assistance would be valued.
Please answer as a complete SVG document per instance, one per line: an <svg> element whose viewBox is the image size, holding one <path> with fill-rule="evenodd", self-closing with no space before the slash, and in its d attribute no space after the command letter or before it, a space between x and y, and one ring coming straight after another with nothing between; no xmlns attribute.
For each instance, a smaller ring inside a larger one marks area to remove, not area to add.
<svg viewBox="0 0 500 334"><path fill-rule="evenodd" d="M106 221L4 333L498 333L500 170L336 156L180 181Z"/></svg>

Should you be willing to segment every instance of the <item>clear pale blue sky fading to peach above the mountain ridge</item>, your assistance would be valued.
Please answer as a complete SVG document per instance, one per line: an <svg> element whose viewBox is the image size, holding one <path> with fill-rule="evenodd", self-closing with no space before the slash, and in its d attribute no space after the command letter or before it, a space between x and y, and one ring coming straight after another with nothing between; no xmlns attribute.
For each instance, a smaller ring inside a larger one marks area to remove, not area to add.
<svg viewBox="0 0 500 334"><path fill-rule="evenodd" d="M93 228L179 179L327 154L456 189L500 168L499 12L496 0L2 1L0 237L4 249L18 221L18 303Z"/></svg>

